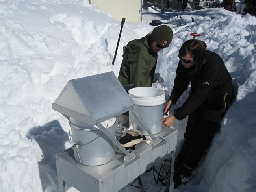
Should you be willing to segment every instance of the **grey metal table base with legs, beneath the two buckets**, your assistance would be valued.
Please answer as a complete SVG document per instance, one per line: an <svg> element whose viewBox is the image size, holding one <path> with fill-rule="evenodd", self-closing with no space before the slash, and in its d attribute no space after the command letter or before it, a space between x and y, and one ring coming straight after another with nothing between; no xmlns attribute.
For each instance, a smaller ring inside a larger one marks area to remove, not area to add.
<svg viewBox="0 0 256 192"><path fill-rule="evenodd" d="M81 192L118 192L167 154L170 154L172 162L169 192L173 192L177 130L163 126L162 131L156 136L164 138L166 144L154 149L144 141L137 144L134 152L140 158L128 166L125 166L124 154L118 150L115 151L112 161L100 166L80 164L74 159L71 148L56 154L59 192L65 192L65 182ZM147 137L148 139L150 138Z"/></svg>

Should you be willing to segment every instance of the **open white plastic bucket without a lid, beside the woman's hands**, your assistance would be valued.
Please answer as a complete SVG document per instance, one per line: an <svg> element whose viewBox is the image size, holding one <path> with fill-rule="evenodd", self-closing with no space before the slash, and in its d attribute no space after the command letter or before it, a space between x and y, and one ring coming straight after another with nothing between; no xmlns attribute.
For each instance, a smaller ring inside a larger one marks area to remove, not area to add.
<svg viewBox="0 0 256 192"><path fill-rule="evenodd" d="M135 104L134 110L153 134L162 129L165 90L154 87L135 87L130 89L129 96ZM134 114L129 111L129 124L143 135L149 135Z"/></svg>

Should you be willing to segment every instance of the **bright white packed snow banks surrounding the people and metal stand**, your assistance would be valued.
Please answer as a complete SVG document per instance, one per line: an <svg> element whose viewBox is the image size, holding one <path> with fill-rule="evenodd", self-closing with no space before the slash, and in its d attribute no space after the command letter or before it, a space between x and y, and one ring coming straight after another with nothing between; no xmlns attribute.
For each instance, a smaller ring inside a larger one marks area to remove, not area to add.
<svg viewBox="0 0 256 192"><path fill-rule="evenodd" d="M178 50L193 38L190 33L200 33L197 39L225 61L237 92L207 155L189 183L174 192L256 191L256 18L223 8L188 7L177 12L180 2L171 3L175 11L157 14L145 1L142 22L125 22L112 66L121 22L88 0L0 1L1 191L58 191L55 154L72 143L68 121L52 109L52 103L70 79L109 71L118 76L122 47L150 33L152 19L168 23L174 33L169 48L158 53L156 72L165 81L153 87L171 92ZM180 15L182 24L177 27ZM173 109L182 105L187 93ZM178 153L186 119L173 126L179 134ZM120 191L155 192L162 187L154 182L152 171L142 174L141 180L145 189L128 185ZM77 190L67 185L66 191Z"/></svg>

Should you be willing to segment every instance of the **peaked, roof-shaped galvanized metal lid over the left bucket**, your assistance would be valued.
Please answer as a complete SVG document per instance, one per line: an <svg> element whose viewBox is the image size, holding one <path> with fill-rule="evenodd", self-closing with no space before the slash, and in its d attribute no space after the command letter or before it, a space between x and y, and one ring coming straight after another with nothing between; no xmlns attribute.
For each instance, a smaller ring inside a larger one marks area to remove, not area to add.
<svg viewBox="0 0 256 192"><path fill-rule="evenodd" d="M52 108L67 119L72 117L91 125L125 113L133 106L113 72L68 81L52 103Z"/></svg>

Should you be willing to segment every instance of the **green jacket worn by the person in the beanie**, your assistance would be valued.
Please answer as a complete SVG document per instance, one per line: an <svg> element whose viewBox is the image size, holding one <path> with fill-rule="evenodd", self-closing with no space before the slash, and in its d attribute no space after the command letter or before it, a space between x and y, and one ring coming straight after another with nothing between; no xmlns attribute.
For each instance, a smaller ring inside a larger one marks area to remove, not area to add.
<svg viewBox="0 0 256 192"><path fill-rule="evenodd" d="M128 42L124 49L118 76L122 85L152 87L158 55L150 47L149 35Z"/></svg>

